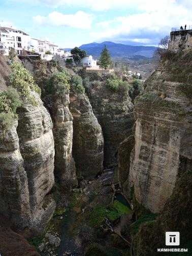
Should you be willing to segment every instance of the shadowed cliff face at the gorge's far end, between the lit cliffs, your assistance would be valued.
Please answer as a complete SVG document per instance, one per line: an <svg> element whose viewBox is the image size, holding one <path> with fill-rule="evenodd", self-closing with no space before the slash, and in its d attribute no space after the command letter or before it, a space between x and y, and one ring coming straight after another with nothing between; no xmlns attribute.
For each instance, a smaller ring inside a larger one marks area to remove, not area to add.
<svg viewBox="0 0 192 256"><path fill-rule="evenodd" d="M117 164L119 143L132 134L133 104L126 90L112 93L105 84L92 84L88 93L104 135L104 167Z"/></svg>

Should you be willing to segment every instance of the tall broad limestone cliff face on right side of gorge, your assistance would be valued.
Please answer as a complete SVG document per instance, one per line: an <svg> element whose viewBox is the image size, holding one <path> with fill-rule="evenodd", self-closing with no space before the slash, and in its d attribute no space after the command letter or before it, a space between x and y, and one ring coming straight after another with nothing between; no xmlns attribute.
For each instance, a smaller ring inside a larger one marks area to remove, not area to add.
<svg viewBox="0 0 192 256"><path fill-rule="evenodd" d="M163 209L191 159L191 60L191 52L162 60L135 100L135 147L126 193L134 185L137 201L152 212Z"/></svg>

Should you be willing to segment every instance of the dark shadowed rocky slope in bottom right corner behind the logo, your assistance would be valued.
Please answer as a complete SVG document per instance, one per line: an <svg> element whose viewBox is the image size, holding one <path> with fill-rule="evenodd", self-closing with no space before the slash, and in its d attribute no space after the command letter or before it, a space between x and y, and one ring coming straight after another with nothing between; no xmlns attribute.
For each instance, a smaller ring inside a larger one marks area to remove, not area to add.
<svg viewBox="0 0 192 256"><path fill-rule="evenodd" d="M167 231L180 232L180 248L191 254L192 236L192 172L191 160L185 162L185 172L177 180L173 194L166 202L156 220L142 223L133 238L133 252L136 256L158 256L157 248L165 248ZM180 252L182 254L182 252ZM165 255L169 255L170 252ZM187 252L186 252L187 254Z"/></svg>

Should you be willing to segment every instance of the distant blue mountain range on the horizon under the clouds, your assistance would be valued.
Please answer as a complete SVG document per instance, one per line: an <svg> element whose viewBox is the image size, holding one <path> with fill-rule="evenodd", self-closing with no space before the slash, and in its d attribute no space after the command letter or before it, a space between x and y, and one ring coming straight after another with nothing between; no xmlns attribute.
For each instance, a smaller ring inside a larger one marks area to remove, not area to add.
<svg viewBox="0 0 192 256"><path fill-rule="evenodd" d="M141 55L145 57L152 57L156 49L154 46L133 46L133 45L124 45L116 44L113 42L103 42L103 43L90 43L81 45L79 48L85 50L87 54L90 54L94 57L99 57L101 51L104 48L104 45L107 46L111 57L131 57L135 55Z"/></svg>

